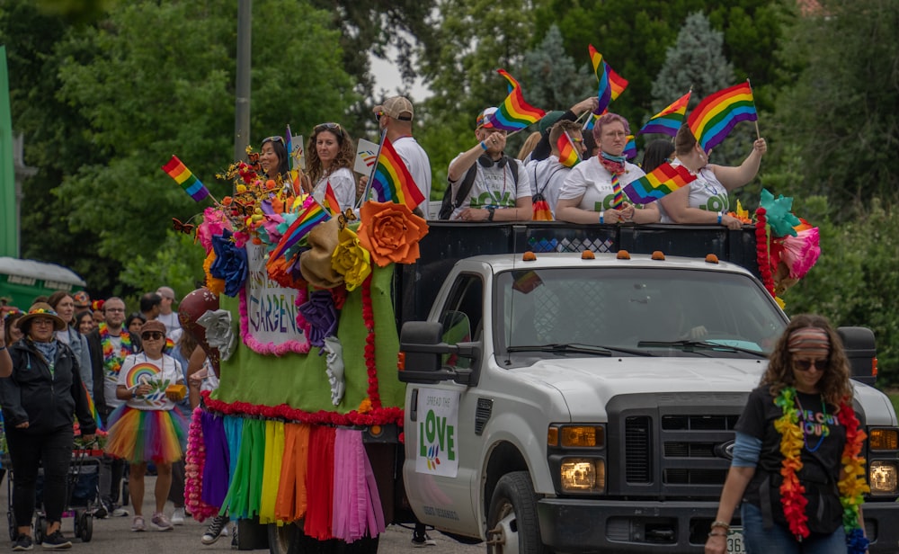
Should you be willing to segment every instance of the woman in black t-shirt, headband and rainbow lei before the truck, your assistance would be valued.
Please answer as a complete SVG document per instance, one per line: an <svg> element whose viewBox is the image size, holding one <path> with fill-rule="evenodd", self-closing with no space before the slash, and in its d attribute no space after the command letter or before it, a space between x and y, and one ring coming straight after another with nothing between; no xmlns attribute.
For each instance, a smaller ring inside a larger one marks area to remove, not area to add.
<svg viewBox="0 0 899 554"><path fill-rule="evenodd" d="M861 509L851 507L867 490L856 450L865 435L852 408L849 361L825 317L790 321L734 428L734 458L706 552L727 551L741 503L751 554L867 550ZM841 501L850 506L845 512Z"/></svg>

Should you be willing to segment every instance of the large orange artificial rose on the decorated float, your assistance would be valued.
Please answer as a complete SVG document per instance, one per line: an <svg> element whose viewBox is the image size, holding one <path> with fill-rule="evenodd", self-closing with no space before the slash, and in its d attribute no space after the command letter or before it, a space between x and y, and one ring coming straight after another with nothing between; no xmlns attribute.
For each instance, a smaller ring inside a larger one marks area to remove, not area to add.
<svg viewBox="0 0 899 554"><path fill-rule="evenodd" d="M391 262L412 264L420 256L418 241L428 234L428 223L405 204L367 201L360 210L360 244L380 267Z"/></svg>

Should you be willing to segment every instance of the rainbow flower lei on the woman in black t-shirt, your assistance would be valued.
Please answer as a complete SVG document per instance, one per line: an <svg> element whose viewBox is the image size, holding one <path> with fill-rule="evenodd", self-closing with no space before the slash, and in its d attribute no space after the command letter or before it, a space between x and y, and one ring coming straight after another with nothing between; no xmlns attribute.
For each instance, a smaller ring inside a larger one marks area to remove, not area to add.
<svg viewBox="0 0 899 554"><path fill-rule="evenodd" d="M796 389L786 387L780 391L774 404L783 410L783 415L774 422L780 433L780 454L783 462L780 475L780 501L787 518L789 530L797 540L808 537L808 516L806 515L806 487L797 475L802 469L800 452L803 448L802 426L796 408ZM837 420L846 429L846 444L843 446L841 465L845 477L840 479L840 504L843 507L842 523L846 532L846 545L850 554L863 554L868 550L868 539L859 525L859 507L864 503L864 494L870 490L865 482L865 459L860 452L867 436L859 430L859 419L855 411L845 401L841 402Z"/></svg>

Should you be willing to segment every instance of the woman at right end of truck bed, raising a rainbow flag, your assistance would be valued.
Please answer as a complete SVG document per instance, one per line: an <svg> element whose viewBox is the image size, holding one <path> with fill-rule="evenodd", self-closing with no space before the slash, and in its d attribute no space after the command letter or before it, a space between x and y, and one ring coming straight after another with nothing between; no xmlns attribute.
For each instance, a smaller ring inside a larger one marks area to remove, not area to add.
<svg viewBox="0 0 899 554"><path fill-rule="evenodd" d="M727 215L730 210L728 192L749 183L759 173L761 156L768 151L765 139L752 144L752 152L737 167L708 163L690 127L686 124L674 138L675 159L672 165L683 165L697 178L687 186L665 195L659 203L663 223L691 223L695 225L723 225L738 229L743 223Z"/></svg>

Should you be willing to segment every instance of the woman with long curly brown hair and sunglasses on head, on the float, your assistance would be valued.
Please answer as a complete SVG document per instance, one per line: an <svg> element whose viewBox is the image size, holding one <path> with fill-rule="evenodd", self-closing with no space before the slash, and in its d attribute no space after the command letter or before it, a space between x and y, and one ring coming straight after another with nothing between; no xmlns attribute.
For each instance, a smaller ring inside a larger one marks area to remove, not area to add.
<svg viewBox="0 0 899 554"><path fill-rule="evenodd" d="M306 147L306 169L312 195L325 204L327 183L331 183L340 210L356 203L356 179L352 174L356 147L339 123L322 123L312 130Z"/></svg>

